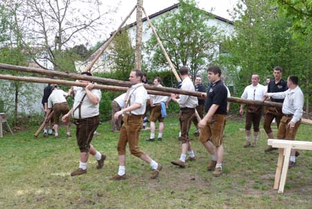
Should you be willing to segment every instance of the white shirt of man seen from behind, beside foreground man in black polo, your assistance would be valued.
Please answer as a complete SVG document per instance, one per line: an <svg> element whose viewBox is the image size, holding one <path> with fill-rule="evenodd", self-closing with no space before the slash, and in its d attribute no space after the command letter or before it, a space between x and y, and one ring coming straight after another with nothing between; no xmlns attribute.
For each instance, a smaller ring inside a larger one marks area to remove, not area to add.
<svg viewBox="0 0 312 209"><path fill-rule="evenodd" d="M183 79L181 90L195 92L195 87L191 78L187 77ZM180 94L180 99L177 99L177 103L180 108L196 108L196 106L198 106L198 99L197 97Z"/></svg>

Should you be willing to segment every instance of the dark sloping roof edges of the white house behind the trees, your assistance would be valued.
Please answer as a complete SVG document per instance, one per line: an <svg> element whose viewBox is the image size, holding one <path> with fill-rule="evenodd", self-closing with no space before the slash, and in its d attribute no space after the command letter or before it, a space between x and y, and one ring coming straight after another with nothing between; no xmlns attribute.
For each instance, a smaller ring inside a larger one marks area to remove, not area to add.
<svg viewBox="0 0 312 209"><path fill-rule="evenodd" d="M157 16L162 15L162 14L168 12L168 11L171 11L171 10L176 9L178 6L179 6L179 3L175 3L175 4L173 4L173 6L169 6L168 8L164 8L163 10L160 10L159 12L156 12L156 13L154 13L154 14L152 14L152 15L148 15L148 18L149 18L149 19L153 19L154 17L157 17ZM198 8L198 9L201 10L200 8ZM202 10L202 11L205 11L205 10ZM207 11L205 11L205 12L207 12ZM220 21L222 21L222 22L225 22L225 23L227 23L227 24L232 24L232 25L234 24L234 22L233 22L232 20L226 19L226 18L224 18L224 17L220 17L220 16L218 16L218 15L214 15L214 14L212 14L211 12L207 12L207 15L214 16L215 19L218 19L218 20L220 20ZM144 17L144 18L142 19L142 22L146 22L146 20L147 20L146 17ZM123 28L131 28L131 27L136 26L136 25L137 25L137 22L132 22L131 24L128 24L128 25L126 25L126 26L123 26ZM122 30L122 29L121 29L121 30ZM113 31L112 33L110 33L110 37L111 37L113 34L114 34L114 31ZM107 38L107 40L109 40L110 37ZM105 40L97 49L94 49L94 51L91 53L91 55L89 56L88 59L94 57L94 56L95 56L94 53L96 53L96 51L100 50L101 47L103 47L103 45L105 44L105 42L107 42L107 40Z"/></svg>

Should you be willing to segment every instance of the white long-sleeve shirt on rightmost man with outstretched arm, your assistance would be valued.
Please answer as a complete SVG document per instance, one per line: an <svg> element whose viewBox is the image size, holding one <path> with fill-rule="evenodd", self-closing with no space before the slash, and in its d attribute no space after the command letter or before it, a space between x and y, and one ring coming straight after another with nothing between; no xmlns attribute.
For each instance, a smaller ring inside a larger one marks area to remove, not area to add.
<svg viewBox="0 0 312 209"><path fill-rule="evenodd" d="M300 120L303 114L304 94L299 86L285 92L268 93L268 96L274 99L284 99L282 112L286 115L293 115L291 122L295 123Z"/></svg>

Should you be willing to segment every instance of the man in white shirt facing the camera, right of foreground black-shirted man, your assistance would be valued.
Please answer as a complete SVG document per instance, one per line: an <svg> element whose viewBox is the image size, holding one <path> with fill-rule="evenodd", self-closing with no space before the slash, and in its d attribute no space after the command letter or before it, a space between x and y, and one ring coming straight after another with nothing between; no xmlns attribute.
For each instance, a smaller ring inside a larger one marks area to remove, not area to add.
<svg viewBox="0 0 312 209"><path fill-rule="evenodd" d="M251 99L251 100L263 100L264 94L266 94L266 87L259 83L260 77L257 74L252 75L252 84L245 87L243 94L241 95L242 99ZM243 115L244 113L244 104L241 104L239 114ZM257 139L259 135L259 124L262 116L262 106L248 105L246 110L246 121L245 121L245 135L246 142L243 147L256 147ZM251 126L254 126L254 142L250 143L250 133Z"/></svg>

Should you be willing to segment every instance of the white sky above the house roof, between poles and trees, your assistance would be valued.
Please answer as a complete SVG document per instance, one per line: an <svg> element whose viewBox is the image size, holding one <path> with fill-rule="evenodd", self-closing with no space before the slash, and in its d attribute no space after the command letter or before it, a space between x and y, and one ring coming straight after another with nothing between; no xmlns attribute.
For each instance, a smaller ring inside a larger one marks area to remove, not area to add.
<svg viewBox="0 0 312 209"><path fill-rule="evenodd" d="M121 24L123 19L129 14L130 10L137 4L137 0L102 0L103 4L118 7L117 12L112 19L114 21L110 25L110 32L116 30ZM232 11L237 0L196 0L198 7L227 19L232 19L227 10ZM148 13L152 15L155 12L163 10L172 6L174 3L178 3L177 0L143 0L143 6ZM144 14L143 14L144 16ZM144 16L145 17L145 16ZM136 11L132 13L130 20L126 24L130 24L136 21ZM109 35L107 33L106 35Z"/></svg>

